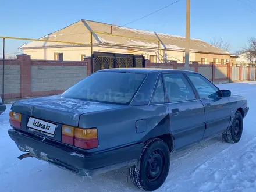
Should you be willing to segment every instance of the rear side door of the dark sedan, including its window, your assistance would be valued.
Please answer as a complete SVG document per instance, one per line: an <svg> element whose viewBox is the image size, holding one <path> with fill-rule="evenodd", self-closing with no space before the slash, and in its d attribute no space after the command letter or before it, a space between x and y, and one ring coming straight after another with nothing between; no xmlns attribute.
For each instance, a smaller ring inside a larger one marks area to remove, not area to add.
<svg viewBox="0 0 256 192"><path fill-rule="evenodd" d="M162 74L170 130L175 150L202 140L205 131L204 106L183 73Z"/></svg>

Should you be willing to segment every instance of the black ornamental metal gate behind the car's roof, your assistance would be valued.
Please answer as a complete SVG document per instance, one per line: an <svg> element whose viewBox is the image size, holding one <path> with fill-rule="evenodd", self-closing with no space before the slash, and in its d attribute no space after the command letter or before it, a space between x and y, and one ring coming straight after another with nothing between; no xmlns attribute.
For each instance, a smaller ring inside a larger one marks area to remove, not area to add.
<svg viewBox="0 0 256 192"><path fill-rule="evenodd" d="M145 67L145 58L143 55L94 52L92 57L94 58L94 72L109 68Z"/></svg>

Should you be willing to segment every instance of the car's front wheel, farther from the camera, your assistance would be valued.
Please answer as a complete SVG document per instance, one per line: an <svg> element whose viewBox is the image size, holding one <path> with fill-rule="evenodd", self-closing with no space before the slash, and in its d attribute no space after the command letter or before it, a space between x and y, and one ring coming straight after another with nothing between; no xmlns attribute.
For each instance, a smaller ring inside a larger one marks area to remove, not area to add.
<svg viewBox="0 0 256 192"><path fill-rule="evenodd" d="M227 143L237 143L243 133L243 116L240 111L236 111L232 125L223 133L223 138Z"/></svg>

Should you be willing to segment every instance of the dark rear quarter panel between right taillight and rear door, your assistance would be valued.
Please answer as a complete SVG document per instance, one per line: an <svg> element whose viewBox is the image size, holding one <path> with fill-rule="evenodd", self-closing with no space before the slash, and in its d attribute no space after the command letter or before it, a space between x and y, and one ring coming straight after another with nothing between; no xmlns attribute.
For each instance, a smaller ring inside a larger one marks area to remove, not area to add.
<svg viewBox="0 0 256 192"><path fill-rule="evenodd" d="M149 138L170 133L169 112L166 105L127 106L107 112L80 116L79 127L97 127L99 147L92 151L122 147L145 142ZM136 121L146 120L144 132L136 133Z"/></svg>

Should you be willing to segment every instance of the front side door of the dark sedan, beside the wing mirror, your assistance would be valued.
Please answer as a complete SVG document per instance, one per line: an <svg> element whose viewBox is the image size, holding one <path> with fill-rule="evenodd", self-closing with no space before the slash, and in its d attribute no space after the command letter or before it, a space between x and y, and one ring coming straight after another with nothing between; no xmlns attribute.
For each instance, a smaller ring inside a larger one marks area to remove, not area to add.
<svg viewBox="0 0 256 192"><path fill-rule="evenodd" d="M187 73L195 90L204 104L206 129L204 138L221 133L230 122L229 99L221 96L221 91L201 74Z"/></svg>

